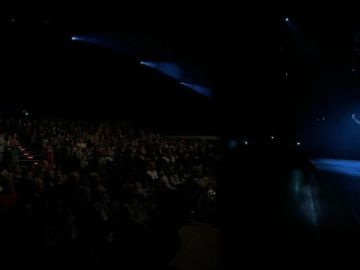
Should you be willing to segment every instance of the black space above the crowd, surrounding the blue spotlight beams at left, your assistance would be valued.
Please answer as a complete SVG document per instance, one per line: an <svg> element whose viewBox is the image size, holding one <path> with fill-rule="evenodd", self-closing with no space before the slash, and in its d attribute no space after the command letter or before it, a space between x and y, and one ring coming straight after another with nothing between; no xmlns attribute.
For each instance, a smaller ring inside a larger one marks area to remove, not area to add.
<svg viewBox="0 0 360 270"><path fill-rule="evenodd" d="M163 133L216 135L214 99L139 64L143 57L176 62L192 70L190 81L211 86L207 3L159 7L8 9L0 18L2 107L33 115L116 118ZM71 40L98 33L132 39L134 46L142 45L141 55Z"/></svg>

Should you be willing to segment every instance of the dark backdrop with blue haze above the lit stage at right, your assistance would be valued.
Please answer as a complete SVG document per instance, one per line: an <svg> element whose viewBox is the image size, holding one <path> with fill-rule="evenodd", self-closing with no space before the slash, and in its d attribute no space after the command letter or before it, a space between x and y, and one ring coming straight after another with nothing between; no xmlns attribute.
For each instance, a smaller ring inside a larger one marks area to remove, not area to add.
<svg viewBox="0 0 360 270"><path fill-rule="evenodd" d="M355 4L254 3L224 13L217 36L222 130L299 140L314 155L359 155L351 119L360 113Z"/></svg>

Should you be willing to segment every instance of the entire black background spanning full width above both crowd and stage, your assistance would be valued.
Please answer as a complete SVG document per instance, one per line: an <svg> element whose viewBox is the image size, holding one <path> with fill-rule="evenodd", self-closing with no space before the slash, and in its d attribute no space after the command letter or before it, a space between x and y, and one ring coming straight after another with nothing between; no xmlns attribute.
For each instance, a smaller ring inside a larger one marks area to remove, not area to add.
<svg viewBox="0 0 360 270"><path fill-rule="evenodd" d="M352 72L359 66L354 52L359 25L355 5L324 1L7 8L0 19L1 77L8 97L3 100L56 112L63 111L64 103L66 112L127 111L134 117L139 112L135 118L144 118L140 111L156 111L168 117L157 125L173 123L178 133L305 139L318 117L339 122L360 108L359 76ZM73 35L94 33L147 46L134 59L71 42ZM193 71L190 80L211 86L215 97L203 99L138 66L143 57L180 63ZM143 76L147 79L138 79ZM90 94L90 86L99 92ZM114 98L114 89L121 98ZM175 118L182 123L171 121Z"/></svg>

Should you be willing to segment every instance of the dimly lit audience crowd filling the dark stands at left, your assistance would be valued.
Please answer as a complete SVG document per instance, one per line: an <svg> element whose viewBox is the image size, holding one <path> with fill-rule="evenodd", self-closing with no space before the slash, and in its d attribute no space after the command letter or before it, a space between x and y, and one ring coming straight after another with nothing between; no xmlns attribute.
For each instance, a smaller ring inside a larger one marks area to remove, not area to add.
<svg viewBox="0 0 360 270"><path fill-rule="evenodd" d="M215 141L110 122L0 121L0 231L10 265L168 269L178 228L216 222Z"/></svg>

